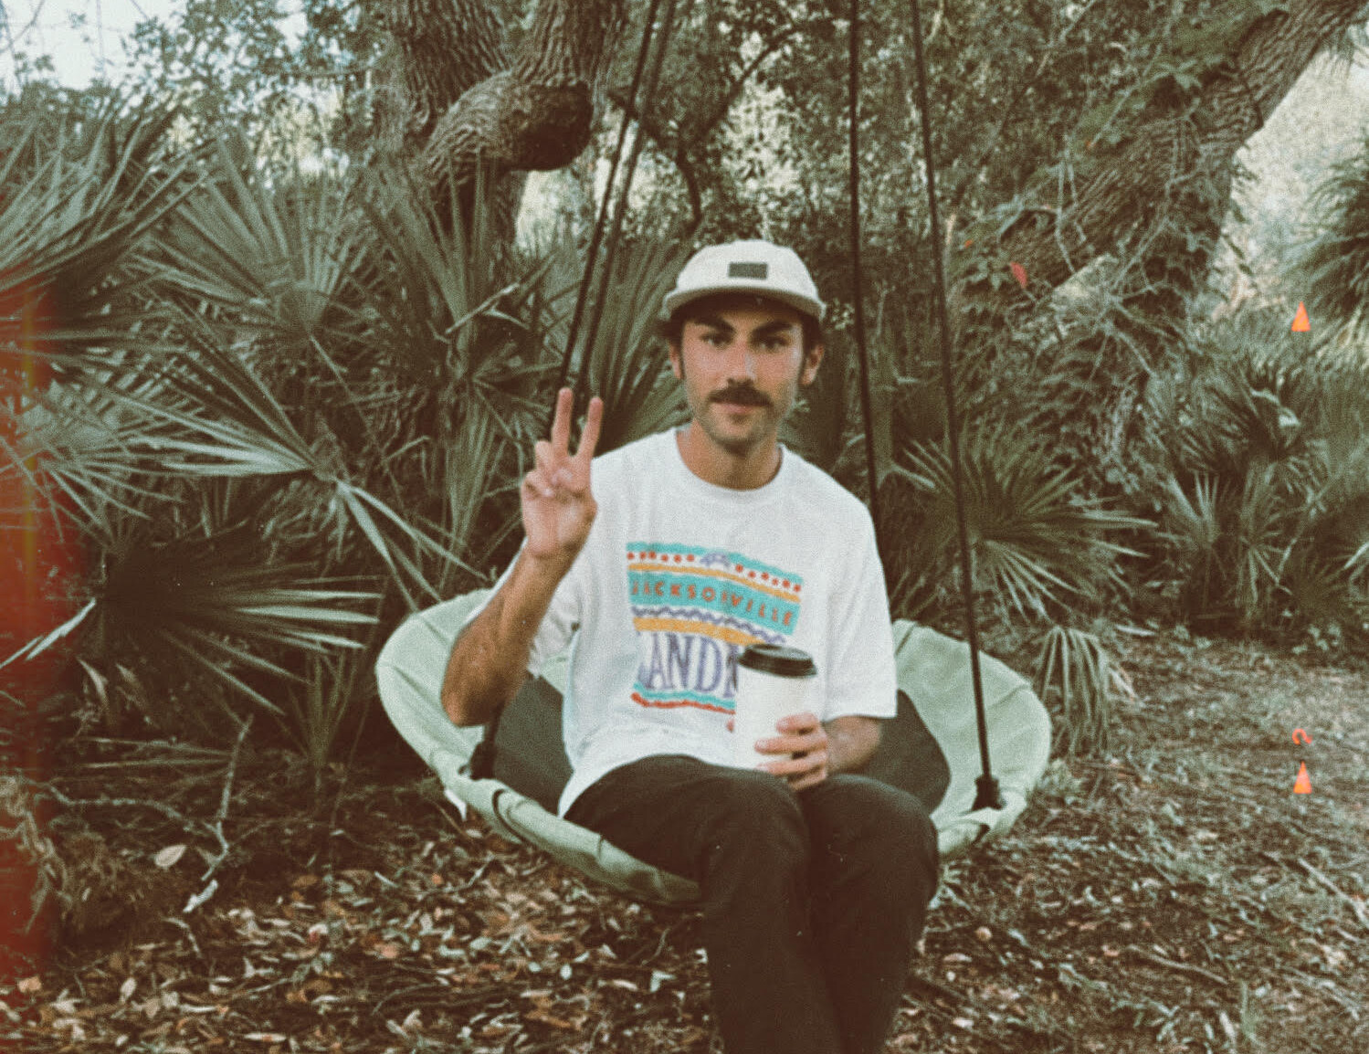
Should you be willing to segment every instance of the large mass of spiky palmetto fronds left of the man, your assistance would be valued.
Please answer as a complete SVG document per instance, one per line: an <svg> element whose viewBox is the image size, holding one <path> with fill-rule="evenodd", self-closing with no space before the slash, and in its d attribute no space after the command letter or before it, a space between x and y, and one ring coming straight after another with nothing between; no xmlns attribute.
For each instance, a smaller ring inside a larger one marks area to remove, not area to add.
<svg viewBox="0 0 1369 1054"><path fill-rule="evenodd" d="M0 214L55 261L30 281L79 266L79 292L105 292L64 315L63 376L14 409L23 445L0 463L44 464L96 568L79 616L23 654L68 647L111 728L223 739L264 712L318 772L374 627L509 557L576 260L494 250L481 207L444 230L402 172L263 172L229 141L153 193L111 183L105 142L34 162ZM645 307L672 264L624 257L637 293L609 298L596 344L619 441L678 416Z"/></svg>

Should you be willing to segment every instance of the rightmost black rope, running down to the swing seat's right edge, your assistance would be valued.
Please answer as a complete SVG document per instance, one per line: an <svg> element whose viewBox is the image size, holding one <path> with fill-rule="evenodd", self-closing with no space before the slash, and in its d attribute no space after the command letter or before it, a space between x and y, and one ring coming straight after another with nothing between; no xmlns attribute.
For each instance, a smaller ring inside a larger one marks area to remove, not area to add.
<svg viewBox="0 0 1369 1054"><path fill-rule="evenodd" d="M975 779L975 808L1001 809L1002 795L988 762L988 727L984 716L984 684L979 673L979 627L975 623L975 584L969 552L969 527L965 522L965 485L960 457L960 415L956 411L956 387L951 381L950 322L946 315L946 272L942 260L941 220L936 215L936 182L932 164L931 107L927 101L927 60L923 56L923 16L917 0L909 0L913 18L913 53L917 59L917 110L923 126L923 163L927 167L927 211L931 220L934 278L936 292L936 323L941 330L942 393L946 400L946 453L956 490L956 527L960 532L960 587L965 605L965 637L969 642L969 673L975 686L975 716L979 721L979 762L982 773Z"/></svg>

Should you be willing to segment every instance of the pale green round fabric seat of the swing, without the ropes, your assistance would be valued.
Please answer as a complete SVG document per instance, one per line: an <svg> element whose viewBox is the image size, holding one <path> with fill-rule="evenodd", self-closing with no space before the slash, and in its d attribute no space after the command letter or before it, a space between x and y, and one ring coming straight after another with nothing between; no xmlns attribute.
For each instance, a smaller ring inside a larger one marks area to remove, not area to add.
<svg viewBox="0 0 1369 1054"><path fill-rule="evenodd" d="M494 776L472 779L481 727L457 728L442 709L446 660L467 616L489 590L409 616L376 663L381 702L394 727L465 813L475 809L505 838L538 846L586 876L661 903L690 903L698 887L653 868L600 835L556 816L571 775L561 746L561 691L568 652L553 657L505 706L494 739ZM898 715L883 725L865 775L916 794L936 825L942 857L1005 834L1027 806L1050 756L1050 717L1019 673L980 658L988 745L1002 808L975 809L979 741L969 649L924 626L894 623Z"/></svg>

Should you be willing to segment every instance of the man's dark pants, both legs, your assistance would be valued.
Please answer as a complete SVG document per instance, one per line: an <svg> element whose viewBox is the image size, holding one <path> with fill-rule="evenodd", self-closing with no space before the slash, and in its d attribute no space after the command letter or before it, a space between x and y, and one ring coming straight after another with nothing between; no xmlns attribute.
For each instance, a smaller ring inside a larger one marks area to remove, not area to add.
<svg viewBox="0 0 1369 1054"><path fill-rule="evenodd" d="M567 819L700 884L728 1054L883 1049L936 890L917 798L850 775L795 794L768 772L669 756L613 769Z"/></svg>

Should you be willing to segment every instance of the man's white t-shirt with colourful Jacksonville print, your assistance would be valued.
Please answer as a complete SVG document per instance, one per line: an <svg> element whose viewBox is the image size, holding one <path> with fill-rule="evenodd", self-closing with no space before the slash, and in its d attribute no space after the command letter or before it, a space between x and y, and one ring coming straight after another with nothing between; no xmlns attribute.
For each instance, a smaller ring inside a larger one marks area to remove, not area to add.
<svg viewBox="0 0 1369 1054"><path fill-rule="evenodd" d="M823 721L897 712L869 513L780 449L779 472L754 490L695 476L674 431L594 459L598 515L528 658L537 675L571 645L563 732L574 773L561 816L606 772L642 757L730 764L737 658L750 643L813 657Z"/></svg>

